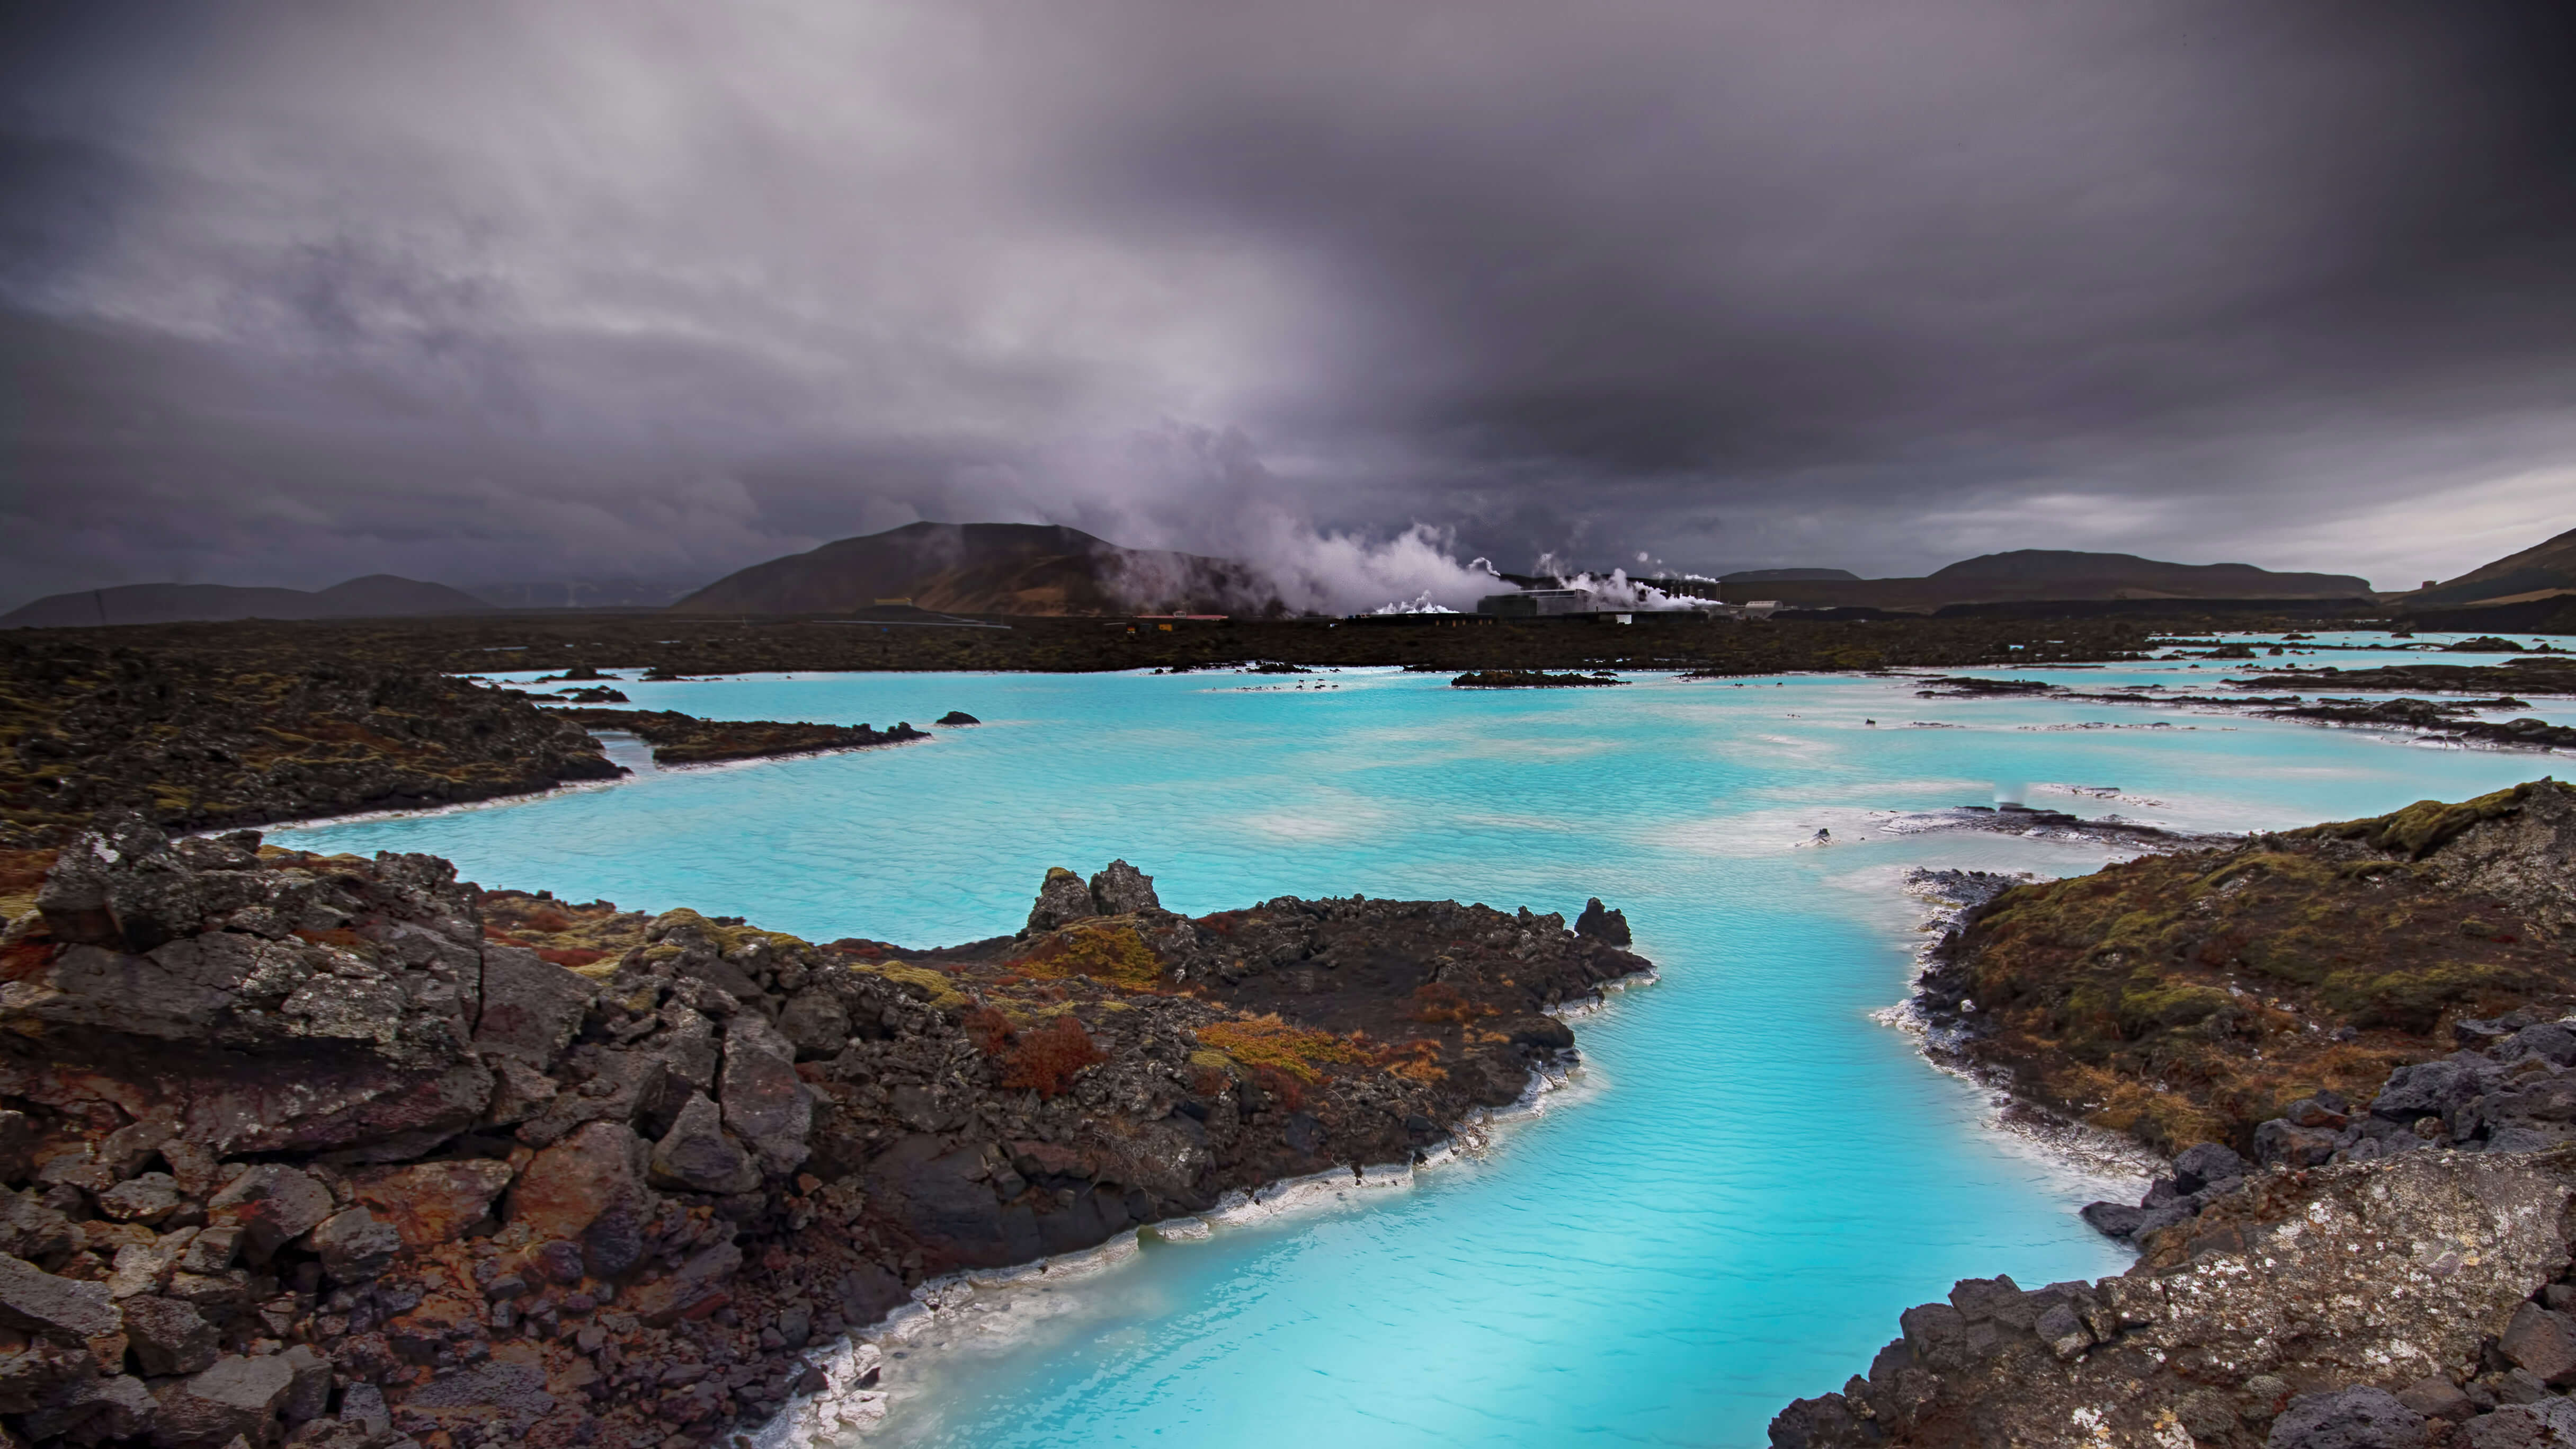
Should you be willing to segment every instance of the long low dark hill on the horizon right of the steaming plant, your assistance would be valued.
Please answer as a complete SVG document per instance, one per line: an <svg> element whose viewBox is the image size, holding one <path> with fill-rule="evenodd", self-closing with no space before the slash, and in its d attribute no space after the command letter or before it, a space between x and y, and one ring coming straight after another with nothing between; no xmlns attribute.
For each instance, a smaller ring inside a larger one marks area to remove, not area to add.
<svg viewBox="0 0 2576 1449"><path fill-rule="evenodd" d="M1788 570L1780 570L1788 572ZM1728 580L1734 583L1734 580ZM2370 601L2370 580L2342 572L2272 572L2254 565L2169 565L2138 554L2014 549L1960 559L1927 578L1744 580L1795 608L1932 611L1953 603L2074 603L2151 598ZM1728 588L1728 598L1744 593Z"/></svg>

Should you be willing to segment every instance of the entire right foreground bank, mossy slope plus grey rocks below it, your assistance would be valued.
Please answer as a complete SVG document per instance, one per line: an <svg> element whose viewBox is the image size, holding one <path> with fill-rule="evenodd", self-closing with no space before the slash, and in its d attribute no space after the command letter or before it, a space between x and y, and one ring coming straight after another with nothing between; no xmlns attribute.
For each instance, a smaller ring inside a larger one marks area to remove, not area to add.
<svg viewBox="0 0 2576 1449"><path fill-rule="evenodd" d="M2174 1171L2087 1209L2136 1269L1960 1281L1777 1449L2576 1444L2576 789L1981 895L1935 1052Z"/></svg>

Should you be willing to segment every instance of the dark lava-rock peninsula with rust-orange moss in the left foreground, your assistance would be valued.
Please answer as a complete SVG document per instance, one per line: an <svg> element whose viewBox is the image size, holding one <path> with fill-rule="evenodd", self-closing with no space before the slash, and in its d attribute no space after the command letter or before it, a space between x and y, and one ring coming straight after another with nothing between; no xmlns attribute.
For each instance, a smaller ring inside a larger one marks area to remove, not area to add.
<svg viewBox="0 0 2576 1449"><path fill-rule="evenodd" d="M1182 918L1110 864L902 951L111 817L0 944L0 1426L729 1444L925 1279L1432 1147L1566 1060L1623 941Z"/></svg>

